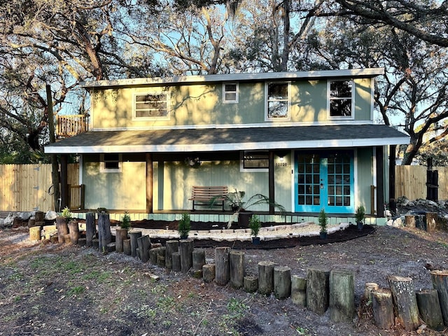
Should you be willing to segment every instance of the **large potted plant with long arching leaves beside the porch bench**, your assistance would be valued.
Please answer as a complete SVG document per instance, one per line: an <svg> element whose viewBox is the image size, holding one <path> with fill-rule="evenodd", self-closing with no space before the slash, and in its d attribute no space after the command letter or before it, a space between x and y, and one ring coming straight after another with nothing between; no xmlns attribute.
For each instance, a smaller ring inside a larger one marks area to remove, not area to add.
<svg viewBox="0 0 448 336"><path fill-rule="evenodd" d="M232 223L234 221L234 218L238 218L238 223L241 225L242 228L248 228L249 221L251 219L251 216L253 214L252 211L248 211L248 208L253 207L258 204L269 204L274 206L274 208L278 209L282 214L286 211L283 205L274 202L269 199L269 197L262 195L262 194L255 194L251 197L248 197L247 200L244 200L244 197L246 196L246 193L244 191L238 191L235 188L234 193L228 193L225 195L218 195L214 197L210 205L213 207L216 200L224 200L225 202L228 202L230 205L230 208L232 211L234 211L234 216L230 216L230 220L228 223L228 229L232 227Z"/></svg>

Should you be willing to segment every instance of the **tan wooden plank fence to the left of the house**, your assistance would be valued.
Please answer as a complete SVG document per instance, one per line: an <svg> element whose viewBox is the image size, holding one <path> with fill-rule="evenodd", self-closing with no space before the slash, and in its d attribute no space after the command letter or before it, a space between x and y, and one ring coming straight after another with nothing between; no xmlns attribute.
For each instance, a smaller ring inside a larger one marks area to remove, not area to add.
<svg viewBox="0 0 448 336"><path fill-rule="evenodd" d="M51 165L0 165L0 176L0 210L48 211L55 209ZM68 181L75 190L78 189L78 164L69 164ZM73 204L80 201L70 200L70 202Z"/></svg>

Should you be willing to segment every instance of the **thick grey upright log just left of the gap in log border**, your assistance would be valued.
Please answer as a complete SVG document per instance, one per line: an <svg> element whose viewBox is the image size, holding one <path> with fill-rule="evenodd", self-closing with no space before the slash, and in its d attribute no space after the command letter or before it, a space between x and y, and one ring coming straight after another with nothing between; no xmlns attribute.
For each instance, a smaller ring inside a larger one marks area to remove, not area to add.
<svg viewBox="0 0 448 336"><path fill-rule="evenodd" d="M355 276L353 272L330 272L330 318L333 322L349 322L355 314Z"/></svg>

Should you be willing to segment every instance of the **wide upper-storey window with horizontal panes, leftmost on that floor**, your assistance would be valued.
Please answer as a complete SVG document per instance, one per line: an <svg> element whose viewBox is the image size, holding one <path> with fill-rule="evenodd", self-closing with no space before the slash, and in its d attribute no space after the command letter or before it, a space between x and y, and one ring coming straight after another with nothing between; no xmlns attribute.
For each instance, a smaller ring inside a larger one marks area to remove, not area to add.
<svg viewBox="0 0 448 336"><path fill-rule="evenodd" d="M169 92L134 94L133 118L169 120Z"/></svg>

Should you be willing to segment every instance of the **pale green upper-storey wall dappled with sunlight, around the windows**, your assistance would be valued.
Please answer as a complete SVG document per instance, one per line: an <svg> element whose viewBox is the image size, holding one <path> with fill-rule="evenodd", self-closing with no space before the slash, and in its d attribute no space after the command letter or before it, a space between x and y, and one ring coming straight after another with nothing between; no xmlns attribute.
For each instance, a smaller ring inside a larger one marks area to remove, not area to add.
<svg viewBox="0 0 448 336"><path fill-rule="evenodd" d="M239 102L223 104L221 83L92 90L92 128L97 130L245 125L260 123L331 123L327 80L290 83L290 118L265 121L265 82L239 83ZM372 79L354 80L355 120L371 120ZM169 92L169 118L132 118L134 94Z"/></svg>

